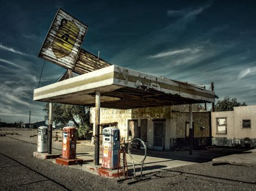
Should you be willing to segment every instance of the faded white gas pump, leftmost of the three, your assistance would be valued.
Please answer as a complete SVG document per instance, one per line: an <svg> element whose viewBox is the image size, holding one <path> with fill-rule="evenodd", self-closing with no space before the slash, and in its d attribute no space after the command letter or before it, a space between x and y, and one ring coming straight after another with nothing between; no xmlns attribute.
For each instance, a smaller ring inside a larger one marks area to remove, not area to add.
<svg viewBox="0 0 256 191"><path fill-rule="evenodd" d="M37 152L47 152L48 147L48 127L39 126L37 137Z"/></svg>

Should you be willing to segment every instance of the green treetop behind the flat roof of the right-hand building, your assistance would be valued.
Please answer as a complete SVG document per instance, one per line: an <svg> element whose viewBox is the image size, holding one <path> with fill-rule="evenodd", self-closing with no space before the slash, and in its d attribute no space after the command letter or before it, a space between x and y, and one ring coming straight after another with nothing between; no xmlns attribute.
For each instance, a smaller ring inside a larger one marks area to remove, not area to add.
<svg viewBox="0 0 256 191"><path fill-rule="evenodd" d="M215 111L233 111L233 107L246 106L247 104L239 103L237 98L231 98L230 96L224 97L224 100L218 101L215 105Z"/></svg>

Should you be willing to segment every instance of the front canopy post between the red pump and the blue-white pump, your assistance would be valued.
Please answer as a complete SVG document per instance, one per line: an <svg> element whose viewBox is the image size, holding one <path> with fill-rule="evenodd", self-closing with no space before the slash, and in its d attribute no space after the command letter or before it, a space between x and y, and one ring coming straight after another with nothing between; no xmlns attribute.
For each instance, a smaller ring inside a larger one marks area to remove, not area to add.
<svg viewBox="0 0 256 191"><path fill-rule="evenodd" d="M99 165L99 124L100 124L100 92L95 97L95 158L94 164Z"/></svg>

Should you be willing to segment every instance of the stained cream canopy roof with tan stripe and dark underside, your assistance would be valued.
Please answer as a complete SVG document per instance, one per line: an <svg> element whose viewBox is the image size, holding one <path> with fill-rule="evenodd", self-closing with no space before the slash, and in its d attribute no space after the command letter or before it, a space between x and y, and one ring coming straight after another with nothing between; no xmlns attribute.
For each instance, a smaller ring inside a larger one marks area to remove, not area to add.
<svg viewBox="0 0 256 191"><path fill-rule="evenodd" d="M34 90L33 100L132 109L214 102L214 91L112 65Z"/></svg>

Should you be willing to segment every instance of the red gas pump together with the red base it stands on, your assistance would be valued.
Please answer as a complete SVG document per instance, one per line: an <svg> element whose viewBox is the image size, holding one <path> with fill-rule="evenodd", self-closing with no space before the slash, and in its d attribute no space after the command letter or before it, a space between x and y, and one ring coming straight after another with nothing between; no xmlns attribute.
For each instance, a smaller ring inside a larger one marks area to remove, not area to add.
<svg viewBox="0 0 256 191"><path fill-rule="evenodd" d="M76 158L77 129L73 126L63 128L62 158L57 158L56 163L61 165L82 164L83 159Z"/></svg>

